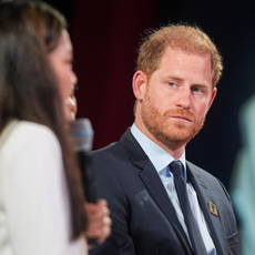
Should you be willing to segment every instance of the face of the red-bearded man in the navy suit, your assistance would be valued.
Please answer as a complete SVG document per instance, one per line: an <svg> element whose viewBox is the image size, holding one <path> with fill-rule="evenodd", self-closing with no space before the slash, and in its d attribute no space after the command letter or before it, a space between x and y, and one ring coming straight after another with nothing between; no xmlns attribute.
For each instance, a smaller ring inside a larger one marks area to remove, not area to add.
<svg viewBox="0 0 255 255"><path fill-rule="evenodd" d="M215 93L210 55L169 47L142 99L145 134L171 150L184 146L203 126Z"/></svg>

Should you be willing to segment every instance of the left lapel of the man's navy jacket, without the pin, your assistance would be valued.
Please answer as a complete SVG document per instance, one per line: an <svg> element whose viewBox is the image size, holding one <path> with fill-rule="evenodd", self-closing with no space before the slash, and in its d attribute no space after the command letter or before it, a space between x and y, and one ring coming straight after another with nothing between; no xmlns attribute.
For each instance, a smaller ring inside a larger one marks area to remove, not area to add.
<svg viewBox="0 0 255 255"><path fill-rule="evenodd" d="M185 247L187 254L192 254L188 241L183 232L183 228L176 217L174 207L153 164L151 163L142 147L139 145L136 140L133 137L130 130L124 133L120 142L133 164L142 170L139 176L143 181L144 185L146 186L149 193L151 194L159 208L163 212L165 217L173 226L176 235L183 244L183 247Z"/></svg>

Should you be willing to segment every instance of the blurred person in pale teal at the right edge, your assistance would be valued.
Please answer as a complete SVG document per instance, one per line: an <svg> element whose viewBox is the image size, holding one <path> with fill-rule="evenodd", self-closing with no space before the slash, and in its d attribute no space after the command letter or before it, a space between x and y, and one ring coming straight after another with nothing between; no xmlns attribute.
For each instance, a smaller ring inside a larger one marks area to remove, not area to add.
<svg viewBox="0 0 255 255"><path fill-rule="evenodd" d="M255 254L255 95L238 112L242 149L231 178L231 195L239 225L242 255Z"/></svg>

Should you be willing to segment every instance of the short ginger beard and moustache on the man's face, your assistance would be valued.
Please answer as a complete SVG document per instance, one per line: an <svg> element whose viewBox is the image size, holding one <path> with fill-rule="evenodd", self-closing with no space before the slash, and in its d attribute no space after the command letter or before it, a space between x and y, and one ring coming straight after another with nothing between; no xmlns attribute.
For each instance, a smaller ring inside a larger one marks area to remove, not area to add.
<svg viewBox="0 0 255 255"><path fill-rule="evenodd" d="M196 120L195 115L183 108L172 109L162 113L152 102L149 93L141 108L142 121L147 131L157 140L171 150L176 150L185 145L193 139L202 129L205 116ZM182 116L191 122L182 122L173 120L171 116Z"/></svg>

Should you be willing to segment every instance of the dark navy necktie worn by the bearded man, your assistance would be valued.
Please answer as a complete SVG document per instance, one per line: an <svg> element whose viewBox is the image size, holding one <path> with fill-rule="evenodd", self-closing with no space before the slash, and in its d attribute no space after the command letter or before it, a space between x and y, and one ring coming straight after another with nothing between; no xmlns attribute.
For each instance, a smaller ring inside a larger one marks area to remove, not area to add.
<svg viewBox="0 0 255 255"><path fill-rule="evenodd" d="M177 192L181 210L183 212L183 216L192 243L193 252L195 255L207 255L207 252L204 246L204 242L201 237L200 230L197 227L197 224L195 222L194 215L191 210L191 205L186 192L186 182L182 173L182 162L173 161L170 164L170 171L174 175L174 185Z"/></svg>

